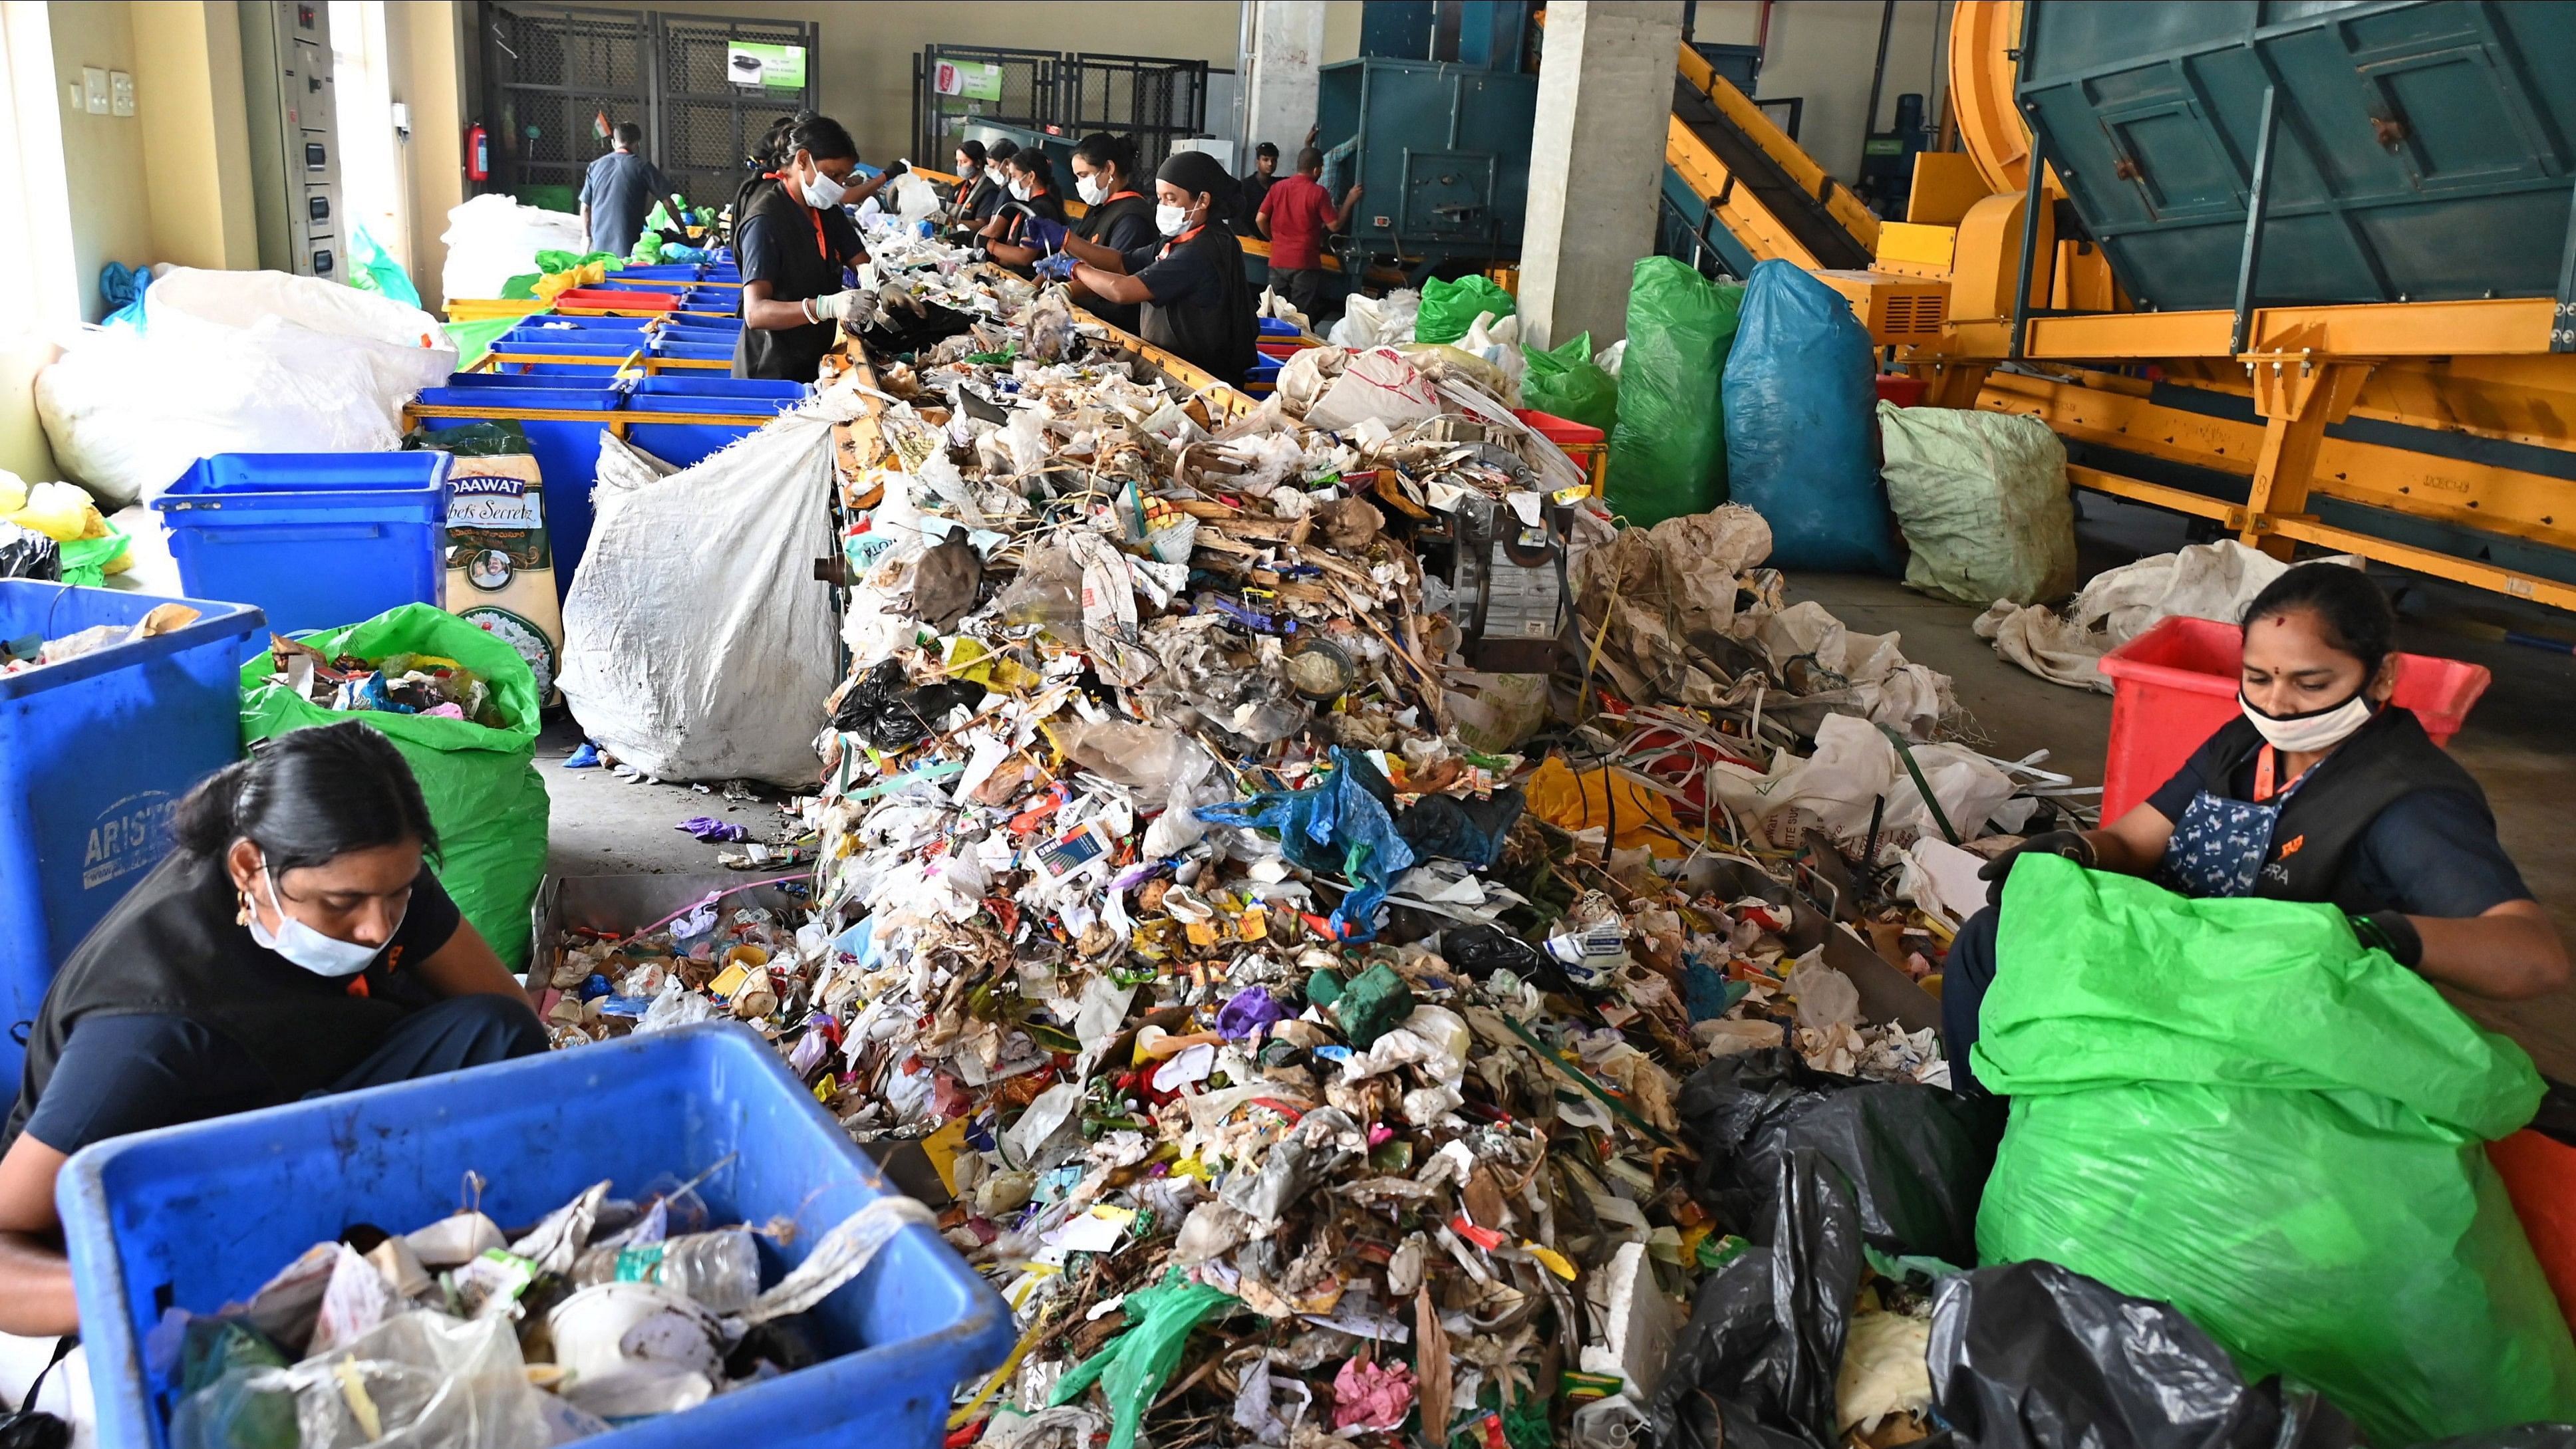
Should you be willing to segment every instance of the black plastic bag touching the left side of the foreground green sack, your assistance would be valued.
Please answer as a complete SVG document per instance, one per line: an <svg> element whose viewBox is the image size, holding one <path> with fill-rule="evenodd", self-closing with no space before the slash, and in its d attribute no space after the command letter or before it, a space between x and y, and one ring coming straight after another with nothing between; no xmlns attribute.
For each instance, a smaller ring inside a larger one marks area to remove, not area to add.
<svg viewBox="0 0 2576 1449"><path fill-rule="evenodd" d="M1842 1168L1873 1248L1976 1261L1976 1204L2004 1138L2004 1102L1855 1081L1770 1048L1708 1063L1677 1107L1682 1140L1700 1153L1692 1192L1721 1223L1767 1220L1777 1158L1814 1148Z"/></svg>

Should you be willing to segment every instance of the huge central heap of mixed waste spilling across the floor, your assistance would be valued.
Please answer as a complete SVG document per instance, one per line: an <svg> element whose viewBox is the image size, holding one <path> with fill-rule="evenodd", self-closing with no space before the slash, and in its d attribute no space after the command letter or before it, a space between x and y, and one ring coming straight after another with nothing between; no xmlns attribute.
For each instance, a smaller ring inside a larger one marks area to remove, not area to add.
<svg viewBox="0 0 2576 1449"><path fill-rule="evenodd" d="M958 1444L1623 1439L1757 1230L1682 1084L1945 1084L1917 857L2063 780L1935 744L1749 510L1615 530L1471 365L1255 404L933 239L873 273L811 921L567 934L556 1040L737 1017L925 1158L1023 1328Z"/></svg>

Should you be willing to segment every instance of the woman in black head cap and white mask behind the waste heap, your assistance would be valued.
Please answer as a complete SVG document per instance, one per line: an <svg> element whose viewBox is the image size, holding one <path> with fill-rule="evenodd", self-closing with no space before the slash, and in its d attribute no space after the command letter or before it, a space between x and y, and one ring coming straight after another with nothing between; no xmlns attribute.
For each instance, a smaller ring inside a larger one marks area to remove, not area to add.
<svg viewBox="0 0 2576 1449"><path fill-rule="evenodd" d="M1139 335L1146 342L1242 386L1260 322L1244 250L1226 229L1234 178L1206 152L1177 152L1154 172L1154 229L1170 239L1126 252L1118 268L1077 260L1072 281L1105 301L1144 304Z"/></svg>

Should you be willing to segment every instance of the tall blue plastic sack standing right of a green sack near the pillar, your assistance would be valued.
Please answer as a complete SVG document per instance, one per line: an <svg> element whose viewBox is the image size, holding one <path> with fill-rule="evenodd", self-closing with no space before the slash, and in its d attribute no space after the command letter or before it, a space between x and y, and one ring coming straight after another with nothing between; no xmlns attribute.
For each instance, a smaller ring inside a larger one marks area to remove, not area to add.
<svg viewBox="0 0 2576 1449"><path fill-rule="evenodd" d="M1793 263L1754 268L1726 355L1726 497L1770 520L1780 569L1904 564L1878 484L1875 376L1878 353L1839 291ZM1623 373L1620 389L1633 383Z"/></svg>

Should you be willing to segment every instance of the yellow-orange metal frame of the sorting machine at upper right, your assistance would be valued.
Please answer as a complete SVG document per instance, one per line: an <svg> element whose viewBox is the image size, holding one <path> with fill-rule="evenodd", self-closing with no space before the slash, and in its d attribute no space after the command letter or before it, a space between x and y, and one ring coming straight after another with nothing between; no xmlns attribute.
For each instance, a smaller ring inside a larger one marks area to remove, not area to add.
<svg viewBox="0 0 2576 1449"><path fill-rule="evenodd" d="M2553 317L2555 304L2259 306L2244 345L2231 345L2233 311L2133 311L2097 247L2056 237L2056 201L2066 196L2056 172L2030 185L2030 129L2012 98L2020 10L2020 0L1958 0L1950 103L1965 152L1917 157L1909 221L1852 226L1870 245L1873 270L1819 270L1852 301L1873 340L1896 347L1896 365L1929 383L1924 401L2022 412L2069 440L2241 476L2246 497L2228 502L2105 468L2069 468L2076 486L2218 520L2280 558L2311 543L2576 607L2576 587L2555 579L2331 528L2308 510L2311 497L2347 499L2576 548L2576 484L2566 479L2326 435L2347 417L2365 417L2576 448L2568 435L2576 355L2550 353L2550 329L2566 324ZM1692 75L1695 59L1685 49L1682 72L1723 106L1734 88L1708 77L1705 64ZM1759 108L1744 100L1741 113L1728 108L1728 116L1772 149ZM1667 160L1680 167L1690 152L1692 165L1705 167L1705 147L1682 142L1692 139L1674 121ZM1777 144L1795 152L1785 136ZM2038 219L2025 229L2032 206ZM1736 216L1721 219L1757 257L1816 268L1765 216L1744 216L1741 226ZM1932 299L1940 299L1937 324L1924 317ZM2244 396L2259 422L2159 407L2146 373Z"/></svg>

